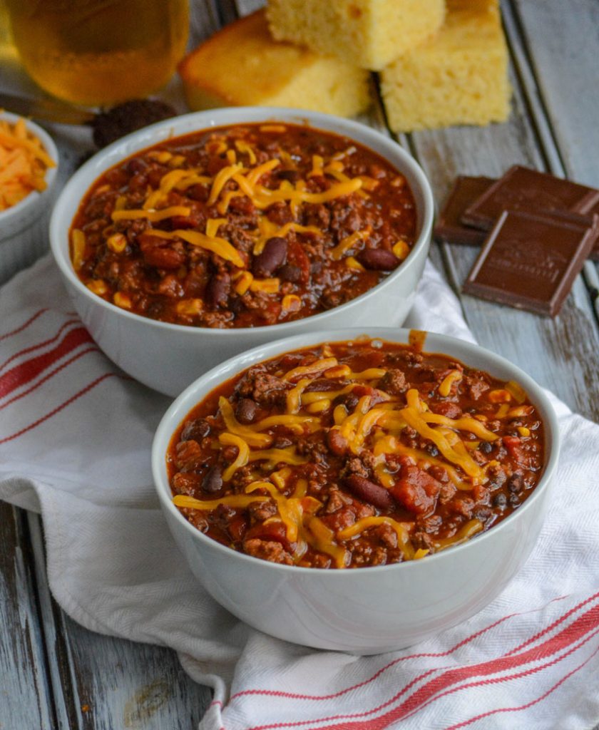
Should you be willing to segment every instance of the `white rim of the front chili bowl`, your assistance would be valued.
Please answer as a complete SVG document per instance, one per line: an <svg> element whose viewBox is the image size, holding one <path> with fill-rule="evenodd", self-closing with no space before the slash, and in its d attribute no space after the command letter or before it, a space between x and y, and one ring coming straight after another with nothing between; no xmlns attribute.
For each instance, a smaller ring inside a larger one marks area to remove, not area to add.
<svg viewBox="0 0 599 730"><path fill-rule="evenodd" d="M213 367L205 374L194 380L194 383L188 385L180 395L172 402L167 411L164 413L160 420L158 427L152 442L151 449L151 469L154 487L159 497L159 502L163 510L175 518L176 523L188 534L192 536L192 539L199 541L200 545L205 548L212 548L218 552L222 552L224 556L229 556L229 559L233 561L240 560L241 565L247 564L251 566L262 566L262 569L272 569L283 571L284 573L296 574L296 575L322 575L324 571L327 575L331 576L331 580L351 580L349 578L344 579L343 575L355 575L355 570L343 570L343 569L328 569L328 568L313 568L297 565L282 565L278 563L271 563L270 561L264 561L261 558L255 558L248 556L245 553L240 553L237 550L221 545L211 537L203 534L197 528L183 517L180 510L175 507L172 503L172 492L167 479L167 467L166 467L166 453L167 448L172 439L172 435L175 429L178 428L180 423L186 417L188 412L199 403L200 400L204 399L208 393L212 392L218 385L229 380L231 377L236 377L242 370L247 369L250 366L259 364L264 360L268 360L272 357L283 355L286 352L302 349L303 347L312 347L318 344L325 344L326 342L345 342L351 341L352 339L358 339L361 336L366 336L369 339L387 339L389 342L400 342L407 343L410 332L413 331L408 328L396 328L396 327L372 327L372 328L335 328L334 330L324 330L318 332L309 332L305 334L294 335L292 337L285 337L284 339L270 342L267 345L259 345L253 347L251 350L245 350L237 356L229 358L222 364ZM468 356L482 356L486 364L484 366L485 371L492 371L494 369L503 369L511 373L511 379L516 380L530 398L530 401L535 404L535 407L541 413L541 419L543 421L543 433L544 433L544 463L543 473L538 485L535 486L530 496L524 500L524 503L518 507L517 510L511 512L505 519L501 520L497 525L493 525L488 530L476 536L476 539L466 542L462 542L461 545L448 548L447 550L441 550L439 553L435 553L432 556L427 556L425 560L417 561L405 561L402 563L394 563L381 566L369 566L364 569L367 570L368 575L372 575L373 572L388 572L394 570L414 570L418 569L417 566L431 565L438 561L448 559L448 556L455 555L457 551L464 551L471 548L472 545L478 544L481 540L488 540L489 536L492 539L497 536L498 531L506 529L511 523L516 520L522 519L529 510L534 509L534 505L541 499L541 494L549 488L557 463L560 455L560 429L557 422L557 415L554 411L552 402L549 397L543 391L538 383L533 380L519 366L515 365L511 361L507 360L503 356L493 353L491 350L487 350L486 347L481 347L473 342L458 339L457 337L451 337L446 334L440 334L435 332L427 331L424 342L425 353L441 353L449 354L451 357L458 358L457 355L451 355L451 349L464 350L468 353ZM427 347L427 343L432 341L433 346ZM450 353L447 353L445 347L449 346ZM459 356L462 360L462 356ZM488 363L488 364L487 364ZM466 366L468 361L464 361ZM209 387L206 388L206 386ZM202 392L201 396L197 396L197 392ZM249 563L248 563L249 561ZM270 566L270 567L265 567ZM359 569L356 569L359 570Z"/></svg>

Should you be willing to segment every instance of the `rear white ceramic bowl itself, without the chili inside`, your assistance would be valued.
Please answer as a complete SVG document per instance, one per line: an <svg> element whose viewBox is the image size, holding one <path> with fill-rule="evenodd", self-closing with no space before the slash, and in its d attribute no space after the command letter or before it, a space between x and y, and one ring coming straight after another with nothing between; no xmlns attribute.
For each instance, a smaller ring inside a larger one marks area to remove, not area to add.
<svg viewBox="0 0 599 730"><path fill-rule="evenodd" d="M106 169L164 139L213 126L264 120L308 123L356 139L375 150L408 180L416 200L418 236L408 258L380 284L346 304L312 317L238 329L186 327L131 314L94 295L69 259L68 232L80 201ZM362 124L326 114L269 107L235 107L189 114L147 127L95 155L62 191L50 222L50 242L66 287L85 326L102 350L137 380L175 396L207 369L248 347L299 332L340 326L400 325L413 302L430 245L434 204L419 165L392 139Z"/></svg>

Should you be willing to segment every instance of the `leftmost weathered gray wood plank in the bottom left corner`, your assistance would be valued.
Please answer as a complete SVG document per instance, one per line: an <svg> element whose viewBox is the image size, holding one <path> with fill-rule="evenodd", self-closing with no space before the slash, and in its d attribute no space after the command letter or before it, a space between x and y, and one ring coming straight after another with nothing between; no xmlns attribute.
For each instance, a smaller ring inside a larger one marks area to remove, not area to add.
<svg viewBox="0 0 599 730"><path fill-rule="evenodd" d="M0 503L0 727L55 726L23 512Z"/></svg>

